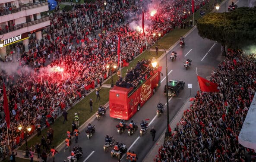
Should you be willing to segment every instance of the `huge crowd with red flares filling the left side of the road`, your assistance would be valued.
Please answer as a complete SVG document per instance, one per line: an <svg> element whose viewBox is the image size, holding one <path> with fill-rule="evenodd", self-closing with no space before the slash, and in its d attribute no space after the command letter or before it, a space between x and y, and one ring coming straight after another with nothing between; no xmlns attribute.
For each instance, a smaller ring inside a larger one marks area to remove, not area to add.
<svg viewBox="0 0 256 162"><path fill-rule="evenodd" d="M29 40L29 51L20 52L16 72L0 71L1 146L7 143L3 81L7 87L11 117L9 140L14 149L25 136L24 131L17 129L19 125L32 125L31 132L38 123L41 127L49 126L61 110L71 107L77 99L83 98L83 94L108 77L106 65L117 62L118 35L122 44L121 59L130 62L145 50L146 44L154 44L157 38L152 36L153 32L164 36L175 26L180 26L185 18L184 7L190 9L188 2L177 1L169 10L169 4L162 1L158 11L164 14L158 14L159 20L145 14L145 19L151 22L145 30L145 39L140 31L129 26L134 20L141 24L141 1L124 5L107 0L107 6L100 2L73 5L72 11L54 13L48 29L50 34L42 40ZM196 0L195 6L203 3L203 0ZM169 19L168 15L173 18ZM97 30L101 30L99 37ZM6 56L5 63L16 64L11 57ZM27 65L35 70L29 70ZM63 73L54 70L57 68L63 69Z"/></svg>

